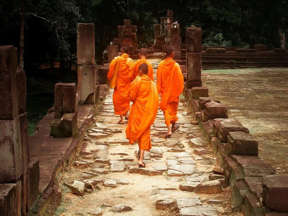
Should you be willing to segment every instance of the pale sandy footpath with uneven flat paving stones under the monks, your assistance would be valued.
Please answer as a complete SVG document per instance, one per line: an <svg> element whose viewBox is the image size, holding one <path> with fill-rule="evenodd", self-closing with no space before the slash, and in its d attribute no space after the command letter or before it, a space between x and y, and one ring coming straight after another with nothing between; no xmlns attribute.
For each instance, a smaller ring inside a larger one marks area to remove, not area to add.
<svg viewBox="0 0 288 216"><path fill-rule="evenodd" d="M157 69L157 65L155 69ZM164 138L167 129L165 128L165 124L163 124L164 115L161 110L158 111L156 121L151 127L152 150L145 153L144 160L148 170L146 171L153 173L153 175L149 176L128 172L129 169L131 171L132 167L137 168L137 166L131 164L138 164L135 151L137 152L139 148L137 143L131 145L125 140L127 121L125 125L115 125L119 120L119 116L113 113L112 95L113 91L109 92L104 104L100 107L95 123L84 137L81 151L74 157L73 166L67 168L65 171L60 183L60 187L62 188L62 203L56 211L56 215L89 215L90 210L96 208L101 208L105 216L115 214L130 216L176 215L175 211L156 209L156 201L167 198L195 198L196 200L201 200L202 204L200 204L203 208L212 208L215 211L210 212L208 215L241 215L233 213L230 210L231 191L229 187L223 188L220 184L220 192L217 191L218 193L214 194L193 193L179 189L180 184L187 183L193 185L209 181L209 175L213 175L212 169L218 166L215 156L212 152L209 152L211 148L206 147L208 144L204 137L202 137L200 128L197 125L190 124L192 118L187 113L188 108L185 106L183 96L181 96L178 109L178 123L181 124L181 128L171 138ZM97 130L102 135L93 134ZM117 130L117 133L113 133L112 131L114 130ZM202 148L189 145L188 141L194 138L198 138L194 142L198 144L202 143ZM173 148L163 145L167 140L178 143L178 146ZM196 151L200 149L206 152L202 153L201 156L196 155ZM155 155L152 153L154 151L159 154ZM99 158L103 158L103 163L100 162L102 159ZM183 161L183 159L186 161ZM104 162L105 160L106 162ZM177 167L171 166L168 162L176 163ZM130 163L131 166L127 163ZM81 164L86 164L85 168ZM113 164L121 166L118 172L113 170ZM161 168L159 168L160 166ZM93 171L96 172L93 168L97 167L103 169L102 174L92 174ZM162 170L162 173L159 171L157 173L157 170ZM178 170L178 173L177 175L171 174L169 170L176 173ZM92 172L90 173L91 176L87 177L87 173L89 172ZM157 175L154 175L155 173ZM85 196L80 197L72 194L69 187L66 186L72 184L74 180L86 181L84 179L88 179L90 182L98 181L101 190L94 190L91 194L86 193ZM115 187L105 186L105 181L111 179L117 181L117 185L114 185ZM121 183L125 181L126 184ZM218 200L218 204L211 204L208 202L209 199ZM118 204L128 204L133 208L133 211L122 213L109 211L111 206Z"/></svg>

